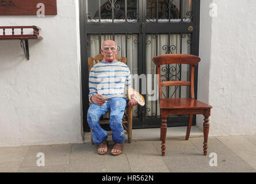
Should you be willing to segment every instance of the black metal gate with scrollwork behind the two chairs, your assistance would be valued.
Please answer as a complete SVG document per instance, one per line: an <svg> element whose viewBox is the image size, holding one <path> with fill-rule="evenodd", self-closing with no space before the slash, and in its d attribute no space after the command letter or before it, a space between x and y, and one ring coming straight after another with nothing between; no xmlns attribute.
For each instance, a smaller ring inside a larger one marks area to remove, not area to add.
<svg viewBox="0 0 256 184"><path fill-rule="evenodd" d="M115 40L119 55L127 57L132 74L151 74L156 68L152 57L165 53L189 53L198 56L200 0L81 0L81 68L83 127L88 131L88 63L90 56L100 53L106 39ZM167 65L161 68L162 81L188 80L188 66ZM197 98L197 71L195 70L195 98ZM140 80L140 93L142 89ZM152 86L155 83L152 82ZM157 86L155 86L158 89ZM186 98L189 89L171 86L163 89L164 97ZM148 92L148 91L147 91ZM133 128L159 127L159 101L133 108ZM170 127L185 126L188 116L170 116ZM193 125L196 116L193 118Z"/></svg>

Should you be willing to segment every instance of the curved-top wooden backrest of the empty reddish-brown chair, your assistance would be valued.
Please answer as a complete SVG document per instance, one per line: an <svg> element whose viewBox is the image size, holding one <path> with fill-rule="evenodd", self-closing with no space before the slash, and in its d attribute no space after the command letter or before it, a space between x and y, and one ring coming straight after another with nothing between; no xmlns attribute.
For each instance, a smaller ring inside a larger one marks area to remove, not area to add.
<svg viewBox="0 0 256 184"><path fill-rule="evenodd" d="M153 58L153 62L156 64L158 72L158 85L159 85L159 98L162 97L162 86L190 86L190 97L194 99L194 67L200 62L200 57L179 53L179 54L166 54L159 55ZM161 70L160 66L163 64L189 64L190 70L190 81L165 81L161 82Z"/></svg>

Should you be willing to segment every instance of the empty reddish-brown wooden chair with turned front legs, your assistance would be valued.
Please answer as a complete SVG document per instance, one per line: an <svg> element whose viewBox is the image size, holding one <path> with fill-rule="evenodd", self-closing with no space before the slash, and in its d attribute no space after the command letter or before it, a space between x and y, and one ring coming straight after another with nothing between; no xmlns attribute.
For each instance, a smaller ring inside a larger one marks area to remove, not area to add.
<svg viewBox="0 0 256 184"><path fill-rule="evenodd" d="M193 114L202 114L204 116L204 155L207 155L208 133L209 133L209 116L211 116L212 106L194 99L194 67L200 62L200 57L187 54L167 54L155 56L153 62L156 64L159 76L159 103L161 113L161 140L162 140L162 156L165 156L166 150L166 132L167 117L169 114L189 114L188 128L186 131L186 140L189 139L190 129L192 125ZM165 81L161 82L160 66L163 64L189 64L190 81ZM190 86L190 98L163 98L163 86Z"/></svg>

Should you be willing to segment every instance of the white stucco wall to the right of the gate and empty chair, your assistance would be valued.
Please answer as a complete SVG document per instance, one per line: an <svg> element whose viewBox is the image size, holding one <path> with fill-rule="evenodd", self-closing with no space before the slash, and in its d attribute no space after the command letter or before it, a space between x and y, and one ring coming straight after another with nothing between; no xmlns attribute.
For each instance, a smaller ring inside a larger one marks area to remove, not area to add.
<svg viewBox="0 0 256 184"><path fill-rule="evenodd" d="M200 55L210 60L209 86L205 85L205 79L198 81L198 99L207 99L203 93L207 93L209 87L208 102L213 106L210 135L254 135L256 1L213 0L213 3L217 4L218 9L217 17L213 17L211 23L210 57L208 47L202 47L206 43L202 39L208 28L201 29L200 40ZM208 19L203 18L208 16L205 13L201 11L201 24ZM198 78L208 78L204 73L199 70ZM201 127L200 122L197 124Z"/></svg>

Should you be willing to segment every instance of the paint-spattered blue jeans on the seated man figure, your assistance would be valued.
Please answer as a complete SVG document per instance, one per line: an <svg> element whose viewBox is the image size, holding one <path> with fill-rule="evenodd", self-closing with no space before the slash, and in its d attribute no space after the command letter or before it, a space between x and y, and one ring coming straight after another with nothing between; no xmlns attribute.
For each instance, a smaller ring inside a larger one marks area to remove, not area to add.
<svg viewBox="0 0 256 184"><path fill-rule="evenodd" d="M123 143L125 140L124 128L122 119L124 116L124 109L127 106L125 98L114 97L106 102L103 106L91 104L87 112L87 121L91 132L93 133L93 142L100 144L108 138L108 133L101 128L98 121L100 117L110 110L109 125L112 129L112 140L114 143Z"/></svg>

